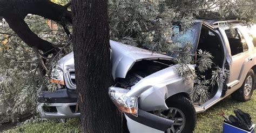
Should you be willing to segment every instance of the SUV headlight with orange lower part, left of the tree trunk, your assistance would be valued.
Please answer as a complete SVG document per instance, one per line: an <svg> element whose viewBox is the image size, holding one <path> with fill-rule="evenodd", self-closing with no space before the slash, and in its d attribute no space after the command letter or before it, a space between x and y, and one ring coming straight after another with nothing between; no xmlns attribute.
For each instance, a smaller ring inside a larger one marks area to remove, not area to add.
<svg viewBox="0 0 256 133"><path fill-rule="evenodd" d="M51 83L65 85L63 71L59 69L53 69L51 74Z"/></svg>

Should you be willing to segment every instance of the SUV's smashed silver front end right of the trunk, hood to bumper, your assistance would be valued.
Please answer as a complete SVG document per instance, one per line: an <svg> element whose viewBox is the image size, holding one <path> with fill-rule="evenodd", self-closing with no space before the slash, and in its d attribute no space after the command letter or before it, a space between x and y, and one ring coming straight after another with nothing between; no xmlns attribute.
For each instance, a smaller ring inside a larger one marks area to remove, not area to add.
<svg viewBox="0 0 256 133"><path fill-rule="evenodd" d="M125 113L130 132L164 132L174 121L154 115L168 109L165 100L173 94L190 92L193 82L175 71L172 57L112 42L112 76L115 85L109 95Z"/></svg>

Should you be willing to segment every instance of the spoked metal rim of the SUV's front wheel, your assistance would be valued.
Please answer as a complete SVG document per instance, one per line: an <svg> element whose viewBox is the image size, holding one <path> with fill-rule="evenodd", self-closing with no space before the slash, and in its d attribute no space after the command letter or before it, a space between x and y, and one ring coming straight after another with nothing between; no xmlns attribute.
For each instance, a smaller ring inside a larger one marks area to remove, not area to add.
<svg viewBox="0 0 256 133"><path fill-rule="evenodd" d="M185 127L185 115L178 108L169 107L167 110L158 110L154 114L174 121L172 127L166 130L167 133L181 132Z"/></svg>

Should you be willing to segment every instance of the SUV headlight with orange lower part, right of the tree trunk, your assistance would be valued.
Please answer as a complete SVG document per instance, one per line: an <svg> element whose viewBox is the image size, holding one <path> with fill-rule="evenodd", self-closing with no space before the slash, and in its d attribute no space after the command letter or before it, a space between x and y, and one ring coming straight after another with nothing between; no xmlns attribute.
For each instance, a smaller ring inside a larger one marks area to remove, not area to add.
<svg viewBox="0 0 256 133"><path fill-rule="evenodd" d="M138 97L126 97L129 90L119 87L110 87L109 96L114 105L122 112L138 116Z"/></svg>

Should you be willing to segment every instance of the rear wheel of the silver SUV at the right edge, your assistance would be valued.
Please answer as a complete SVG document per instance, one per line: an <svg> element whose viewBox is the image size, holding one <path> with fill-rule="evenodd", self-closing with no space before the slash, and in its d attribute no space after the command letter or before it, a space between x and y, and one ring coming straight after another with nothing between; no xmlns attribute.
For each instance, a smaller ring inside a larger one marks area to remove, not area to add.
<svg viewBox="0 0 256 133"><path fill-rule="evenodd" d="M242 83L242 86L231 94L232 99L245 102L251 99L254 90L254 71L251 69Z"/></svg>

